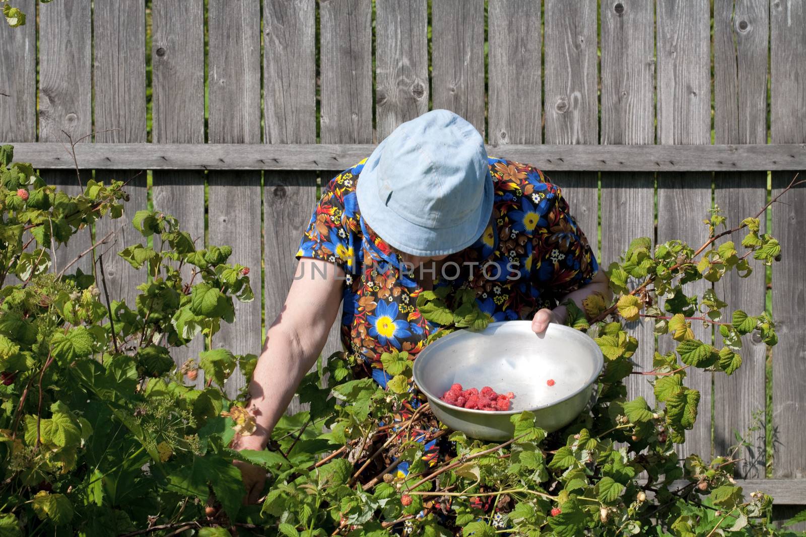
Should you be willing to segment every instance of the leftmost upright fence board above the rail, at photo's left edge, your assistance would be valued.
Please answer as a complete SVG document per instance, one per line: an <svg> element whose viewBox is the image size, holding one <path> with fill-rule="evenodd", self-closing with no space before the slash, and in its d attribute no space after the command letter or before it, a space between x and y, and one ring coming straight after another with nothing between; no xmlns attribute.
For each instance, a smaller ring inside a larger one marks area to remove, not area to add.
<svg viewBox="0 0 806 537"><path fill-rule="evenodd" d="M14 73L0 80L0 139L33 142L36 139L36 0L16 2L29 15L23 27L0 25L0 72Z"/></svg>

